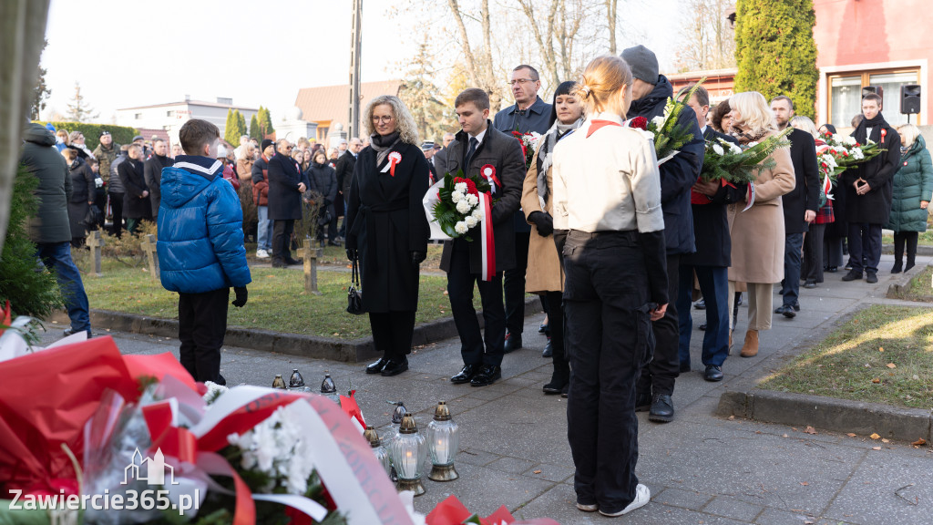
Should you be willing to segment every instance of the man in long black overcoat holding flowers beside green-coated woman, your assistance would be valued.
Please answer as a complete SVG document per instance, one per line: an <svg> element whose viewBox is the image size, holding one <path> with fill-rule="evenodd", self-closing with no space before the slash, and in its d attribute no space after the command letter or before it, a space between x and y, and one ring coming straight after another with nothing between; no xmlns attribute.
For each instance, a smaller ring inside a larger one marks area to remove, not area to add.
<svg viewBox="0 0 933 525"><path fill-rule="evenodd" d="M852 132L858 144L868 140L884 151L867 163L842 172L845 187L845 220L849 222L849 263L852 269L843 281L862 278L878 282L881 261L881 229L891 215L894 174L900 167L900 135L881 114L882 100L876 93L862 98L862 119Z"/></svg>

